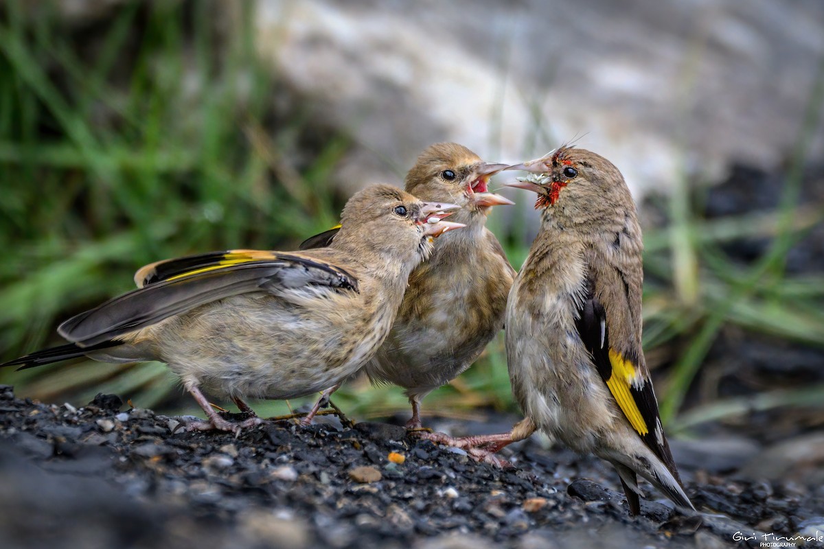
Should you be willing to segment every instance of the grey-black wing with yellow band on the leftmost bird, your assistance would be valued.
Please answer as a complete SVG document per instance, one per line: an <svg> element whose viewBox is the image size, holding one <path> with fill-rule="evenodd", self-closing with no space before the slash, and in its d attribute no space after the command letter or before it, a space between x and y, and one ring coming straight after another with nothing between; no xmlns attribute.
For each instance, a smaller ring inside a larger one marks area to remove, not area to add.
<svg viewBox="0 0 824 549"><path fill-rule="evenodd" d="M330 263L253 250L170 259L147 265L138 275L143 287L68 319L59 326L60 335L89 347L232 295L306 286L358 291L358 280Z"/></svg>

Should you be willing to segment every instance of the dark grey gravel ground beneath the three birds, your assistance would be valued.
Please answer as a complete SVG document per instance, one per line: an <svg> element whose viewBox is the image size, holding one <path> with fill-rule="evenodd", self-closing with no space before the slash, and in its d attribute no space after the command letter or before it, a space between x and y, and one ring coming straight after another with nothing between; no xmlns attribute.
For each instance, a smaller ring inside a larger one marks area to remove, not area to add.
<svg viewBox="0 0 824 549"><path fill-rule="evenodd" d="M235 438L173 432L175 418L124 408L112 395L75 409L0 387L3 547L759 547L735 534L824 523L820 486L689 458L682 474L703 521L649 486L630 519L611 468L536 440L502 471L384 423L279 421Z"/></svg>

